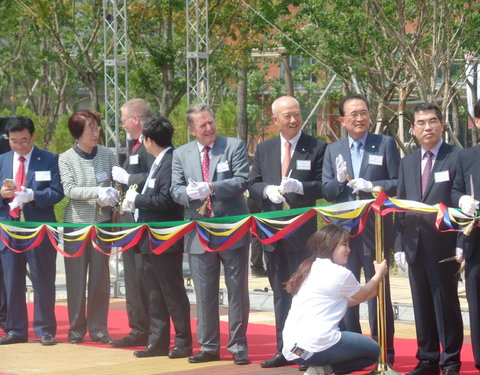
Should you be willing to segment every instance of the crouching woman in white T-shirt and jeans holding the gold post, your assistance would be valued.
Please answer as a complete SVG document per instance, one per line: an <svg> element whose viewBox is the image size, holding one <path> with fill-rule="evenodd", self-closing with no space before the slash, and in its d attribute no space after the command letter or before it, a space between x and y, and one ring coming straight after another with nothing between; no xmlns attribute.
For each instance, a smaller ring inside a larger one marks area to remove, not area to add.
<svg viewBox="0 0 480 375"><path fill-rule="evenodd" d="M375 340L340 331L338 324L347 307L376 296L388 267L385 260L374 262L375 275L361 286L342 266L350 254L348 240L348 232L335 224L315 232L308 241L312 257L286 283L293 300L282 353L287 360L310 366L308 375L350 373L378 362L380 347Z"/></svg>

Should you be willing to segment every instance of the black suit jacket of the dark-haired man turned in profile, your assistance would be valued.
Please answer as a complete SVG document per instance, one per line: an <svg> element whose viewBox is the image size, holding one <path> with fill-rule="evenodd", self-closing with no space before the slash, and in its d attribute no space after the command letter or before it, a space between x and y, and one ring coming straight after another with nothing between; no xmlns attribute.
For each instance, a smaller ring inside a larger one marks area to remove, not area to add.
<svg viewBox="0 0 480 375"><path fill-rule="evenodd" d="M172 185L172 155L169 149L163 155L160 165L146 181L147 189L135 198L135 207L139 209L138 221L143 223L183 220L183 207L175 203L170 195ZM147 176L146 176L147 177ZM145 235L141 244L142 253L151 251L148 235ZM175 243L167 252L183 251L183 239Z"/></svg>

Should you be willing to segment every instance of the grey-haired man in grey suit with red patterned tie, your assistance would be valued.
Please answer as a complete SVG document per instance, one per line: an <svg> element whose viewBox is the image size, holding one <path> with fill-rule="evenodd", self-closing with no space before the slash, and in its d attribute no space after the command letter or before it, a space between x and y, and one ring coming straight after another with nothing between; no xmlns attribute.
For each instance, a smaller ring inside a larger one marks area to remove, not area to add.
<svg viewBox="0 0 480 375"><path fill-rule="evenodd" d="M205 104L189 108L186 121L196 140L173 152L170 189L173 200L186 207L187 220L247 214L243 198L248 182L245 144L235 138L217 135L213 114ZM226 250L210 252L200 243L196 230L185 236L197 297L197 339L201 345L201 351L188 358L190 363L220 359L220 263L225 270L228 290L230 337L227 349L233 354L235 364L250 363L246 337L250 307L249 243L250 238L245 235Z"/></svg>

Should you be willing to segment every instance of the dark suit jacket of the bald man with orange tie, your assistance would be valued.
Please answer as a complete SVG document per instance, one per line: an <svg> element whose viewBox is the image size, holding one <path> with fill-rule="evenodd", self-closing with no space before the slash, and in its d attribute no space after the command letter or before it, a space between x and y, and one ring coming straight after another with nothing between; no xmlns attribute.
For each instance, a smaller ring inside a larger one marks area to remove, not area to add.
<svg viewBox="0 0 480 375"><path fill-rule="evenodd" d="M280 185L282 182L280 139L280 136L277 136L258 144L250 172L248 191L254 200L261 203L263 212L282 209L281 204L275 204L270 199L263 198L263 192L268 185ZM302 183L304 194L285 194L285 199L291 208L315 206L316 200L322 197L322 164L325 148L325 142L303 132L300 135L289 170L292 170L290 177ZM299 161L309 161L309 165ZM286 243L285 249L305 250L308 238L316 229L317 218L314 217L300 227L294 236L282 240ZM278 243L273 243L265 245L264 249L273 251L276 246Z"/></svg>

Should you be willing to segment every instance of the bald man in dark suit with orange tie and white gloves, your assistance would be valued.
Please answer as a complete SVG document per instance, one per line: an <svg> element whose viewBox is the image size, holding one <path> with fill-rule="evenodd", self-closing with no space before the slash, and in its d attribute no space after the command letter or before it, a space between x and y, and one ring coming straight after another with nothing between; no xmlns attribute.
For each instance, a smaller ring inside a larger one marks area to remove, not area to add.
<svg viewBox="0 0 480 375"><path fill-rule="evenodd" d="M263 212L315 206L322 196L322 162L325 143L303 133L302 115L298 101L282 96L272 103L272 120L280 135L257 146L250 172L250 196L259 202ZM261 363L262 367L280 367L289 364L282 355L282 331L292 302L284 283L310 256L307 240L317 229L314 217L302 225L294 235L264 245L265 263L273 290L277 353Z"/></svg>

